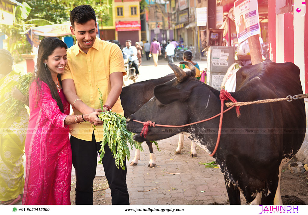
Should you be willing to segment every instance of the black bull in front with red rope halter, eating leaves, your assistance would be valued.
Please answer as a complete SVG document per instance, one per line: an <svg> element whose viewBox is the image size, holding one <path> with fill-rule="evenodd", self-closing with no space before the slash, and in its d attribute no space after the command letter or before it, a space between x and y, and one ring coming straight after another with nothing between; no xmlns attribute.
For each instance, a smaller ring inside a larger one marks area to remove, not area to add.
<svg viewBox="0 0 308 215"><path fill-rule="evenodd" d="M165 139L185 130L200 147L211 153L217 140L219 117L182 128L149 127L146 138L140 136L143 125L133 121L184 125L220 112L220 92L193 78L194 66L184 63L191 72L169 63L177 79L156 86L155 97L128 118L127 128L137 133L134 139L139 142ZM237 72L236 89L231 95L239 102L302 94L299 68L293 63L270 60L244 66ZM224 114L222 130L227 132L221 134L213 156L224 174L230 204L240 204L239 190L247 202L256 199L256 204L282 204L281 166L302 145L306 130L304 101L252 104L242 106L240 111L239 118L235 108ZM155 132L158 128L159 132Z"/></svg>

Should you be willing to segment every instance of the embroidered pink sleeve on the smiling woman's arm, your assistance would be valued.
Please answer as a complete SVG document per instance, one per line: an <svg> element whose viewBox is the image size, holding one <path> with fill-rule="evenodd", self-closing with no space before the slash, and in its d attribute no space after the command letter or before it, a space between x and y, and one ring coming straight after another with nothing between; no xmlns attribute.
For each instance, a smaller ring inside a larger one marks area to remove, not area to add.
<svg viewBox="0 0 308 215"><path fill-rule="evenodd" d="M68 115L60 111L57 101L52 98L51 91L46 83L42 82L41 91L38 93L38 106L51 123L56 127L67 128L64 125L64 120Z"/></svg>

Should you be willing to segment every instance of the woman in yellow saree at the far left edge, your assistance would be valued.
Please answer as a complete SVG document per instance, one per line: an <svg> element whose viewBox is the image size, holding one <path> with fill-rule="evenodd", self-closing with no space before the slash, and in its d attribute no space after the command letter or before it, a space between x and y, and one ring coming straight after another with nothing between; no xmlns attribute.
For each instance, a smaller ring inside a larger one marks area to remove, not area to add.
<svg viewBox="0 0 308 215"><path fill-rule="evenodd" d="M29 115L25 107L18 108L17 114L11 113L3 104L11 97L28 103L24 96L14 86L17 85L19 74L12 71L13 57L10 52L0 50L0 204L13 205L21 201L23 193L23 150ZM9 117L13 116L13 117Z"/></svg>

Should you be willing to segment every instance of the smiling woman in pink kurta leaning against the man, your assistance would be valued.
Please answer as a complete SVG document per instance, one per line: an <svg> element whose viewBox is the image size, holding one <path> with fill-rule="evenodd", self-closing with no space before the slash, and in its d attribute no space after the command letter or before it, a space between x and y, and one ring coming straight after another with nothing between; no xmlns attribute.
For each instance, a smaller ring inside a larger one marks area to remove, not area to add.
<svg viewBox="0 0 308 215"><path fill-rule="evenodd" d="M29 90L30 120L26 135L26 178L22 204L70 204L71 145L68 124L95 120L99 112L69 115L60 74L67 64L67 45L46 37L39 45ZM43 174L40 174L43 173Z"/></svg>

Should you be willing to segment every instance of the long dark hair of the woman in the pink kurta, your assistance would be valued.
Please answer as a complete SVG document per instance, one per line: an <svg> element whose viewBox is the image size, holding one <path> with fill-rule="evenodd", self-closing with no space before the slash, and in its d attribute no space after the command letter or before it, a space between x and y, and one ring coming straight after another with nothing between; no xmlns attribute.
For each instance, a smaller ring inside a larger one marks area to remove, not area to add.
<svg viewBox="0 0 308 215"><path fill-rule="evenodd" d="M41 81L47 84L47 86L49 87L51 91L52 98L57 101L57 105L59 106L62 113L64 113L63 104L60 99L57 86L55 82L52 80L51 72L49 71L49 68L48 67L46 68L44 64L44 60L47 60L48 56L50 56L55 51L56 48L67 49L67 45L57 37L46 37L40 42L38 60L34 68L33 80L35 79L36 81L36 86L37 86L36 92L40 92L41 90L41 87L42 87ZM61 76L60 74L58 74L59 81L61 81L60 78ZM37 104L37 100L38 100L38 97L36 99L36 104Z"/></svg>

